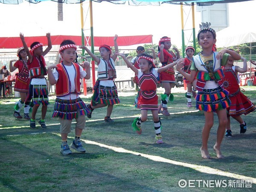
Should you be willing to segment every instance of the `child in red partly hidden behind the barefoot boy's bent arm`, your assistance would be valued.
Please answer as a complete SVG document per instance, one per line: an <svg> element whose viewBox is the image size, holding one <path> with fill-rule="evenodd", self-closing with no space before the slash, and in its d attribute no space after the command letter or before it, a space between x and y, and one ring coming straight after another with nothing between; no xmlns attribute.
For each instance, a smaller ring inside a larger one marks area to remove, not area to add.
<svg viewBox="0 0 256 192"><path fill-rule="evenodd" d="M191 67L191 61L193 58L193 55L195 53L195 49L192 46L188 46L185 49L186 51L186 58L184 59L184 67L183 67L183 71L185 71L186 73L190 74L190 67ZM186 80L185 78L183 79L187 85L187 92L185 94L186 99L188 100L187 102L187 107L188 108L192 108L192 102L191 102L191 93L192 96L195 98L196 97L196 89L194 89L194 87L196 87L196 81L193 81L192 83L188 80ZM192 87L193 85L193 87Z"/></svg>

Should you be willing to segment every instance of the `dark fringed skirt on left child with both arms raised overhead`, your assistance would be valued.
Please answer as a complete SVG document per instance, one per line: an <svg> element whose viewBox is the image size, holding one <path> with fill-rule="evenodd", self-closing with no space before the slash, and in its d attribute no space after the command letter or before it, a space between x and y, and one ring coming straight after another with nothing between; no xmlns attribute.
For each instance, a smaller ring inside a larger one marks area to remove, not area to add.
<svg viewBox="0 0 256 192"><path fill-rule="evenodd" d="M48 90L47 85L29 85L29 92L26 98L26 101L31 101L32 105L48 105L49 99L48 99Z"/></svg>

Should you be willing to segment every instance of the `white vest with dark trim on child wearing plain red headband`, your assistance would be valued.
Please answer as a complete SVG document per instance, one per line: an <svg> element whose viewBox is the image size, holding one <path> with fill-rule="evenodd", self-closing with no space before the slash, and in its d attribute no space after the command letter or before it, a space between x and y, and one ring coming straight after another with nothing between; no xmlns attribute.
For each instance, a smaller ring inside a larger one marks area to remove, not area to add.
<svg viewBox="0 0 256 192"><path fill-rule="evenodd" d="M116 78L116 67L115 62L112 58L109 59L109 64L111 65L111 68L113 70L113 79ZM108 62L104 59L100 58L99 64L98 64L98 79L99 80L108 80L109 72L108 72Z"/></svg>

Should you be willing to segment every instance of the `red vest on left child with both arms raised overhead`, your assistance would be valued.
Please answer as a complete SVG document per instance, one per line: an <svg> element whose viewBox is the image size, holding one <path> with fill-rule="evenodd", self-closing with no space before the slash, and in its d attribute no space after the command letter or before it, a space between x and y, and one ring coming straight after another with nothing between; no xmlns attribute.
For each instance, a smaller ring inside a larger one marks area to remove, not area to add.
<svg viewBox="0 0 256 192"><path fill-rule="evenodd" d="M41 76L43 67L44 67L44 69L46 71L46 75L47 75L46 63L45 63L45 60L44 60L44 56L41 55L40 58L41 58L41 61L42 61L44 66L40 65L39 59L36 58L35 56L33 56L33 60L32 60L31 63L30 63L30 61L28 61L29 77L30 78L36 78L36 77Z"/></svg>

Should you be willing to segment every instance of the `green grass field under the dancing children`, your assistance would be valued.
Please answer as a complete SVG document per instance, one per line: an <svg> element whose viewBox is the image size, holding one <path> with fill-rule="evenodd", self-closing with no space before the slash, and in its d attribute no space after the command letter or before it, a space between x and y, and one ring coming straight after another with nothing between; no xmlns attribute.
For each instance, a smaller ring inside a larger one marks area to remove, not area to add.
<svg viewBox="0 0 256 192"><path fill-rule="evenodd" d="M243 88L246 90L244 94L256 103L256 87ZM248 127L245 134L239 134L239 123L231 119L233 137L223 139L224 159L217 159L212 149L218 127L215 115L209 137L209 152L213 158L205 160L200 153L204 114L195 108L186 108L184 93L174 93L175 100L169 103L171 116L160 115L163 144L155 143L154 124L150 115L142 125L141 135L132 131L131 123L140 116L140 110L132 105L135 92L126 95L120 94L121 103L114 106L111 115L115 121L113 123L103 122L106 108L93 111L82 135L87 152L73 151L72 155L67 156L60 153L58 119L51 117L53 97L48 106L47 130L42 130L38 123L36 129L31 129L29 121L12 116L17 98L1 99L0 192L256 190L255 112L242 116ZM90 102L89 97L83 100ZM41 116L40 112L41 107L37 119ZM68 143L72 142L73 137L74 129L69 134ZM184 188L179 186L181 179L187 182ZM189 180L202 181L194 181L191 186L195 187L190 188ZM222 180L223 187L216 187L214 183L210 185L216 180ZM249 185L239 184L243 182L241 180L248 181ZM208 187L207 184L203 186L203 182L210 184ZM224 183L227 183L226 187Z"/></svg>

